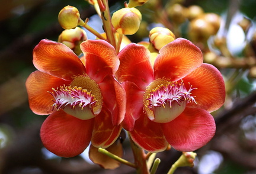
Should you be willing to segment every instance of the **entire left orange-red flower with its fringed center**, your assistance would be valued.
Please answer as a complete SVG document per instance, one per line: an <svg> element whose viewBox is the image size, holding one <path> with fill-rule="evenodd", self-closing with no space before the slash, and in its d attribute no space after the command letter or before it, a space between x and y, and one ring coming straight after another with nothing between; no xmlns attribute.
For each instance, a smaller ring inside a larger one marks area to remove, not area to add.
<svg viewBox="0 0 256 174"><path fill-rule="evenodd" d="M121 131L125 112L124 89L114 78L119 59L103 40L81 43L79 59L69 47L41 40L33 50L38 69L26 82L31 110L50 114L41 126L44 146L62 157L92 146L106 148Z"/></svg>

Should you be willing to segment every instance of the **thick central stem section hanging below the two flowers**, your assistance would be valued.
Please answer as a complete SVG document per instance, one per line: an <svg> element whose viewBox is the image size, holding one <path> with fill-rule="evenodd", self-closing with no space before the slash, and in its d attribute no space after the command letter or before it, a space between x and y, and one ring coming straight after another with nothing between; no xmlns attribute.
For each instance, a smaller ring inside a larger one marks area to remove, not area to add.
<svg viewBox="0 0 256 174"><path fill-rule="evenodd" d="M136 171L138 174L149 174L149 169L146 164L146 154L143 149L141 149L139 146L133 142L132 138L130 137L130 144L133 151L133 156L135 158L135 165L136 165Z"/></svg>

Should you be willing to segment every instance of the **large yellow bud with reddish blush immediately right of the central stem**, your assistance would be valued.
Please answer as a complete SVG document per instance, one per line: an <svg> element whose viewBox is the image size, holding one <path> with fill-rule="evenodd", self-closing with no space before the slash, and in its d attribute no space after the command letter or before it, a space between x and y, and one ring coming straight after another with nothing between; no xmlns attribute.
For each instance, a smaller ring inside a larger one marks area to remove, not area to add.
<svg viewBox="0 0 256 174"><path fill-rule="evenodd" d="M122 8L114 12L111 22L119 34L135 34L139 30L142 15L136 8Z"/></svg>

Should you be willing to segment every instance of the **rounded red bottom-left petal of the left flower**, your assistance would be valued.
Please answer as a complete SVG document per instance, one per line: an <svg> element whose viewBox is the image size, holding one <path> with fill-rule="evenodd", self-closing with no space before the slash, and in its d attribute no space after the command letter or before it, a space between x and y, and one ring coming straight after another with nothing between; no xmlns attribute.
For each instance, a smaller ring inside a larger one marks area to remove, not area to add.
<svg viewBox="0 0 256 174"><path fill-rule="evenodd" d="M44 147L61 157L81 154L89 145L94 119L79 120L60 110L53 112L41 126Z"/></svg>

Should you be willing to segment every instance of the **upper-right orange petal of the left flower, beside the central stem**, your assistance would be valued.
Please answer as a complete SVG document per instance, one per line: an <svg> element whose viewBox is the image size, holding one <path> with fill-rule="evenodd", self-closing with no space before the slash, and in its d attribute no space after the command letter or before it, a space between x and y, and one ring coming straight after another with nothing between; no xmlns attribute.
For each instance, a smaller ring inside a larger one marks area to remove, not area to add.
<svg viewBox="0 0 256 174"><path fill-rule="evenodd" d="M111 44L104 40L86 40L80 45L84 53L87 74L100 83L106 75L114 75L119 67L119 58Z"/></svg>

